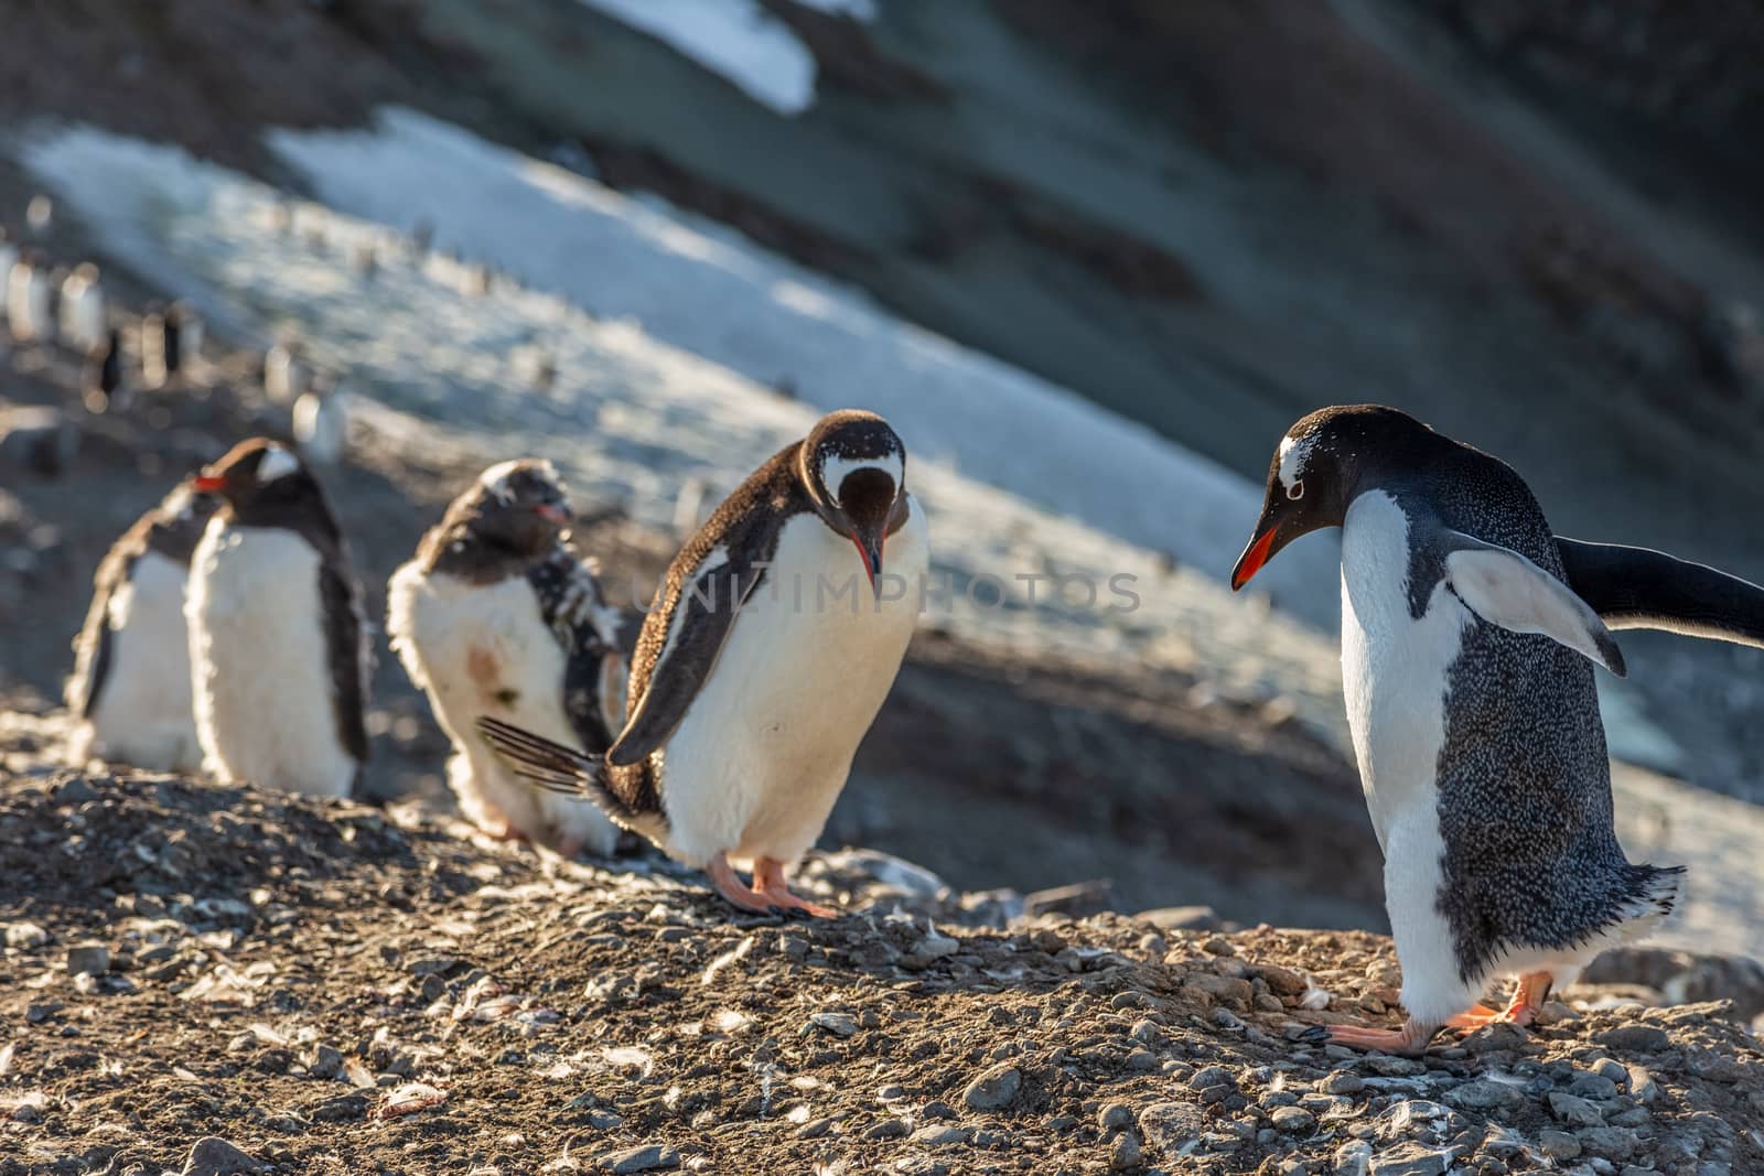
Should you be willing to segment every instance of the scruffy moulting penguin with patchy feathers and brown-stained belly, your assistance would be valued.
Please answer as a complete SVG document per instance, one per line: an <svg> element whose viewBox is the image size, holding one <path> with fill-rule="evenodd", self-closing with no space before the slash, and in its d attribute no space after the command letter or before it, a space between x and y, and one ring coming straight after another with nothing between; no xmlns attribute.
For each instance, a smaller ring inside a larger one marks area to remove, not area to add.
<svg viewBox="0 0 1764 1176"><path fill-rule="evenodd" d="M392 577L386 633L453 741L448 781L466 816L566 857L607 857L619 829L600 809L517 779L473 726L496 714L602 755L624 725L619 612L570 550L568 525L550 462L492 465Z"/></svg>

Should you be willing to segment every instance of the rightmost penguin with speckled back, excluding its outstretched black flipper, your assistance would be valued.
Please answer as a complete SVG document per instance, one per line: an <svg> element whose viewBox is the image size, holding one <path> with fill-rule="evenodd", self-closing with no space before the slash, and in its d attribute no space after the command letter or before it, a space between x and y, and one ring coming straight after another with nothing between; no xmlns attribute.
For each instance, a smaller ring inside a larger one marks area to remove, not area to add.
<svg viewBox="0 0 1764 1176"><path fill-rule="evenodd" d="M1231 587L1319 527L1342 529L1342 693L1408 1009L1402 1030L1327 1037L1416 1054L1446 1024L1524 1024L1678 892L1612 832L1593 666L1623 675L1623 654L1519 474L1395 409L1286 432ZM1492 1012L1499 975L1519 987Z"/></svg>

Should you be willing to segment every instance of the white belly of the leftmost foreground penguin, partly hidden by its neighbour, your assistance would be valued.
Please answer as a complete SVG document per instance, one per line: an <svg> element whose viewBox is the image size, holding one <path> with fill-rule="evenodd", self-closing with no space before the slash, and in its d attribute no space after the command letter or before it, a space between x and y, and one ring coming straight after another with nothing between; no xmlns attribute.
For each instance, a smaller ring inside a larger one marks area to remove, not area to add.
<svg viewBox="0 0 1764 1176"><path fill-rule="evenodd" d="M108 605L109 668L92 709L88 755L155 770L196 770L183 564L159 552L134 561Z"/></svg>

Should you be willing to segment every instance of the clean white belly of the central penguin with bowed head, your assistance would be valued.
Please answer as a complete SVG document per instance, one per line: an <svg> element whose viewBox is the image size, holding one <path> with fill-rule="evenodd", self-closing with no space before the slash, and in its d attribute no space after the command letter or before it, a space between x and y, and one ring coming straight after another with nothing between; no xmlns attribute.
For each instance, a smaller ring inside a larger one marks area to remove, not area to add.
<svg viewBox="0 0 1764 1176"><path fill-rule="evenodd" d="M903 599L878 603L857 548L818 517L785 524L766 584L663 748L669 853L690 866L720 852L790 864L820 836L917 622L930 568L917 502L882 568L905 582ZM884 594L901 580L884 580Z"/></svg>

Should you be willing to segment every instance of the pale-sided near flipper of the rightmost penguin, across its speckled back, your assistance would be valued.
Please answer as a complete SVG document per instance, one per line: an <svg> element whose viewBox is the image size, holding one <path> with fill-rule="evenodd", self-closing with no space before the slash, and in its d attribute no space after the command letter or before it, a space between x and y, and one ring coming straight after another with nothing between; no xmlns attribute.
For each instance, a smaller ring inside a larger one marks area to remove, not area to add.
<svg viewBox="0 0 1764 1176"><path fill-rule="evenodd" d="M1623 651L1591 605L1519 552L1446 531L1446 584L1489 624L1542 633L1625 677Z"/></svg>

